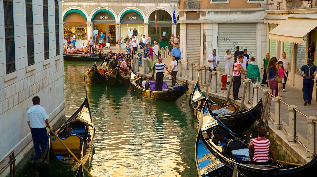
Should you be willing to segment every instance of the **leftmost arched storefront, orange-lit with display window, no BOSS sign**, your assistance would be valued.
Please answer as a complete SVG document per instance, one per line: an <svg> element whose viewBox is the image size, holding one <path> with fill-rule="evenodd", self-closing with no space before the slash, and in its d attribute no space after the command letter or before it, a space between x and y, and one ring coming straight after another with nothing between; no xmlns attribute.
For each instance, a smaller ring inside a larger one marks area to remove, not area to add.
<svg viewBox="0 0 317 177"><path fill-rule="evenodd" d="M68 10L63 16L64 23L64 39L67 35L76 36L76 45L81 43L81 40L87 40L87 17L77 9ZM80 41L79 41L80 40Z"/></svg>

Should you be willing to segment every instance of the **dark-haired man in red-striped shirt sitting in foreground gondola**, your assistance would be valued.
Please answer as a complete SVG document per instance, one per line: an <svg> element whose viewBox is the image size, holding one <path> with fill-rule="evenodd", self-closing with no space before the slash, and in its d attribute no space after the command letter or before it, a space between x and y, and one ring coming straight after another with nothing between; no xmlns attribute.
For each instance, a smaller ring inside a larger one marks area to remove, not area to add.
<svg viewBox="0 0 317 177"><path fill-rule="evenodd" d="M251 162L256 165L266 165L268 164L269 158L269 148L271 145L270 140L265 138L266 130L264 128L258 129L258 137L251 140L249 144L249 154ZM253 156L254 149L254 156Z"/></svg>

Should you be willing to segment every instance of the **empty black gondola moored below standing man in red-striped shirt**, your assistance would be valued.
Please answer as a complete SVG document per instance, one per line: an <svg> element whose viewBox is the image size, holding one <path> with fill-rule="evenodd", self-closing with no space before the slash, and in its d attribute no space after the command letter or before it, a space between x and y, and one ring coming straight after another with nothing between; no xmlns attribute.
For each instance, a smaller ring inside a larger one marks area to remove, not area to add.
<svg viewBox="0 0 317 177"><path fill-rule="evenodd" d="M191 93L190 106L194 115L199 120L201 114L201 108L203 102L206 101L206 95L200 90L198 82L196 83L193 92ZM244 109L242 111L236 111L236 106L230 104L221 106L213 102L208 98L209 106L215 116L225 126L232 130L236 134L240 134L247 130L251 125L260 119L262 114L262 98L251 109Z"/></svg>

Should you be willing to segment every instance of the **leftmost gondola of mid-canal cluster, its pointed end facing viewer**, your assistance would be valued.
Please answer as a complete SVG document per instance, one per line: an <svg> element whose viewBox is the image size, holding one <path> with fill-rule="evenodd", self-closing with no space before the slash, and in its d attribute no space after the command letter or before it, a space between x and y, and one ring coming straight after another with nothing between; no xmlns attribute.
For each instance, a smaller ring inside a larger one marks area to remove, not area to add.
<svg viewBox="0 0 317 177"><path fill-rule="evenodd" d="M103 68L98 68L96 62L94 62L93 67L89 68L84 74L84 80L89 84L97 84L106 81L106 70Z"/></svg>

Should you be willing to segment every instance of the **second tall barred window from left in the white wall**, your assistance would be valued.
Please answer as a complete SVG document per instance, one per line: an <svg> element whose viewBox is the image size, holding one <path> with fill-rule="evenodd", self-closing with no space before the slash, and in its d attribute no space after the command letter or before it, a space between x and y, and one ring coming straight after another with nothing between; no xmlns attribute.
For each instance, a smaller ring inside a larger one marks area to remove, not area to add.
<svg viewBox="0 0 317 177"><path fill-rule="evenodd" d="M33 7L32 0L25 0L26 40L28 49L28 66L34 64Z"/></svg>

